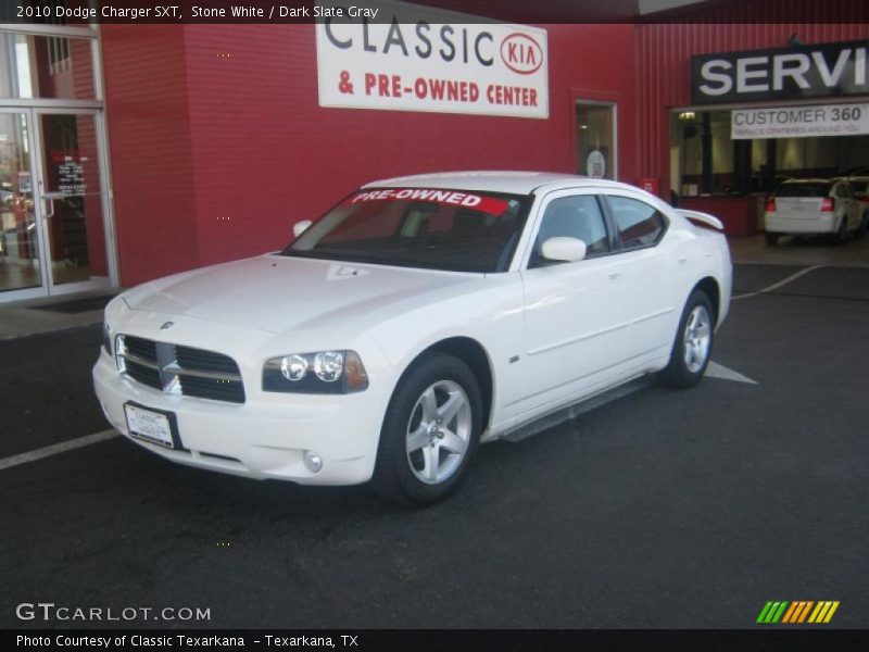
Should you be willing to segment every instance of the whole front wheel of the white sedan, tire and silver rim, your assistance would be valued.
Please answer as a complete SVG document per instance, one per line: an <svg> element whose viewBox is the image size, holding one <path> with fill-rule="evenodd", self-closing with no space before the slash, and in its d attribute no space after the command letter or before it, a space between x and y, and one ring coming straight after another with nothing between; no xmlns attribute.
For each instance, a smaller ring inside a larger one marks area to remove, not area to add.
<svg viewBox="0 0 869 652"><path fill-rule="evenodd" d="M442 501L462 481L481 429L474 373L453 355L426 355L405 372L387 408L374 490L405 505Z"/></svg>

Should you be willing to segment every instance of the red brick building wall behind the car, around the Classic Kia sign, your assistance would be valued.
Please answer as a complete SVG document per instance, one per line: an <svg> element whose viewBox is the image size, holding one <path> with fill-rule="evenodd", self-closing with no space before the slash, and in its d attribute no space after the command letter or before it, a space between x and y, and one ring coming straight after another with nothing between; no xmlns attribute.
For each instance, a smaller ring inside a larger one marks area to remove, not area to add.
<svg viewBox="0 0 869 652"><path fill-rule="evenodd" d="M577 99L618 103L638 176L633 25L550 25L550 117L322 109L313 25L104 25L122 284L282 247L375 178L576 172Z"/></svg>

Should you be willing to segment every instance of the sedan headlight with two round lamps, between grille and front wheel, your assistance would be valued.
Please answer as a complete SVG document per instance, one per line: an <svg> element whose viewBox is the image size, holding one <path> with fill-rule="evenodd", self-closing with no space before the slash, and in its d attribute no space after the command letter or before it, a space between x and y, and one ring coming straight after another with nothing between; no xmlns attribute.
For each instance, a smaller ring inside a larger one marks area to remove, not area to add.
<svg viewBox="0 0 869 652"><path fill-rule="evenodd" d="M263 391L350 393L368 387L355 351L316 351L272 358L263 367Z"/></svg>

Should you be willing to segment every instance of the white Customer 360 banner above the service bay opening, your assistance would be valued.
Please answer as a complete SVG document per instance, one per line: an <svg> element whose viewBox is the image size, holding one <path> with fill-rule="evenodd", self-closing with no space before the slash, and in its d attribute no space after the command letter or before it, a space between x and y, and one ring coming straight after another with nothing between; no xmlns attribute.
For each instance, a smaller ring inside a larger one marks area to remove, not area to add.
<svg viewBox="0 0 869 652"><path fill-rule="evenodd" d="M740 109L730 114L733 140L869 134L869 103Z"/></svg>

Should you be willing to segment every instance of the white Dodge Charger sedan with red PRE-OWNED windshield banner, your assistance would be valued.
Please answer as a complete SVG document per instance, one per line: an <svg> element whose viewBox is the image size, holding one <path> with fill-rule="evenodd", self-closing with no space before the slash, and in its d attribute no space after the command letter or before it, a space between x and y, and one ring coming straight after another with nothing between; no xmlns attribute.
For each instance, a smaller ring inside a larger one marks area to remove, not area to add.
<svg viewBox="0 0 869 652"><path fill-rule="evenodd" d="M720 229L569 175L376 181L282 251L112 300L97 396L174 462L432 503L481 441L644 374L697 383L730 302Z"/></svg>

